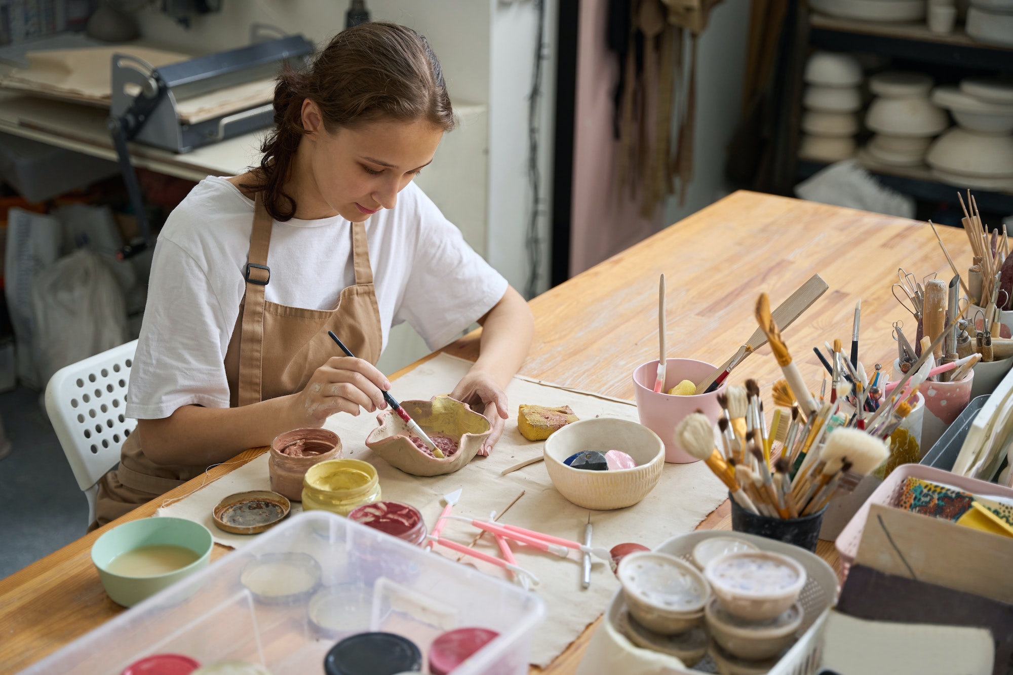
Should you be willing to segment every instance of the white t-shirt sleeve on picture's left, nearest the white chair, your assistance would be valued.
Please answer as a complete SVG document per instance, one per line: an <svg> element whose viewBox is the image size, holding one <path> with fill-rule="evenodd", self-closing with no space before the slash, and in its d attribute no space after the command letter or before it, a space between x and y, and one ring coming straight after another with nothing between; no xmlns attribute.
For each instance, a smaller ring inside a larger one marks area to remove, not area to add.
<svg viewBox="0 0 1013 675"><path fill-rule="evenodd" d="M204 270L178 244L159 238L148 288L127 417L159 420L193 403L228 407L223 350L230 335Z"/></svg>

